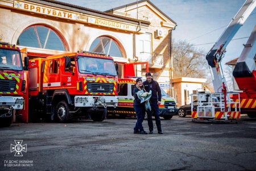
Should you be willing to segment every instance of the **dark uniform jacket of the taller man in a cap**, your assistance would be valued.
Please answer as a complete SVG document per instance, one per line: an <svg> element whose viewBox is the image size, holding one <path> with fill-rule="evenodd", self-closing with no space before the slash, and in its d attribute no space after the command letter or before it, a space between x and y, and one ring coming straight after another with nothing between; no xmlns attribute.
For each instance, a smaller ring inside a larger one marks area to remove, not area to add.
<svg viewBox="0 0 256 171"><path fill-rule="evenodd" d="M143 82L143 85L145 87L145 90L149 92L150 90L152 91L152 95L150 100L151 101L161 101L162 94L161 94L161 89L155 80L152 79L151 82L148 82L147 80Z"/></svg>

